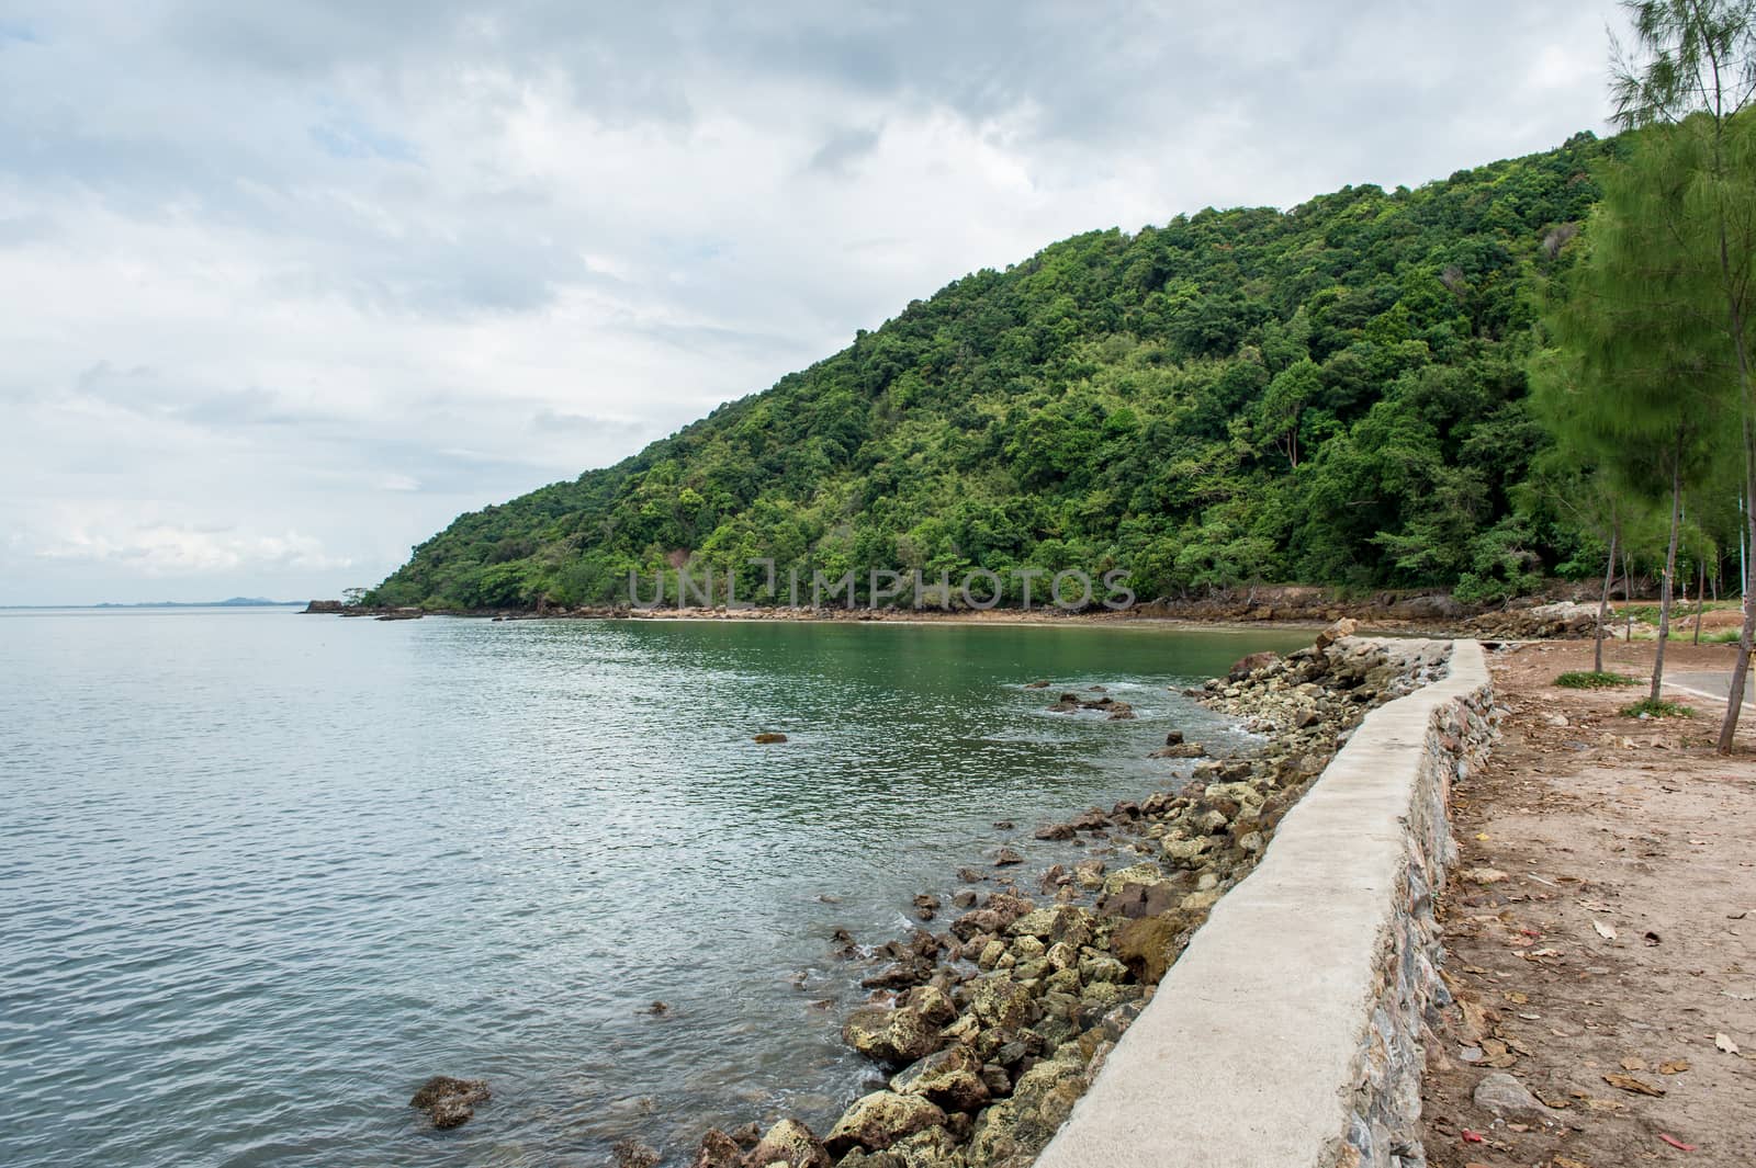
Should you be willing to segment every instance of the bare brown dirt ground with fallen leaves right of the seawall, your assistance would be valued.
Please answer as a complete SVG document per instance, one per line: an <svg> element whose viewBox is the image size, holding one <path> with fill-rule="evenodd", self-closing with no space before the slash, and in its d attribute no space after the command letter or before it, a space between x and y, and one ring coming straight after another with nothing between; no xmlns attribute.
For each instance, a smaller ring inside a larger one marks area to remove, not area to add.
<svg viewBox="0 0 1756 1168"><path fill-rule="evenodd" d="M1422 1087L1438 1168L1756 1164L1756 714L1635 721L1652 645L1607 645L1640 686L1559 689L1589 642L1491 654L1503 738L1452 793L1461 858L1440 901L1445 1010ZM1672 644L1666 672L1731 668ZM1545 1107L1473 1100L1493 1070ZM1679 1147L1684 1145L1684 1147ZM1688 1149L1688 1150L1686 1150Z"/></svg>

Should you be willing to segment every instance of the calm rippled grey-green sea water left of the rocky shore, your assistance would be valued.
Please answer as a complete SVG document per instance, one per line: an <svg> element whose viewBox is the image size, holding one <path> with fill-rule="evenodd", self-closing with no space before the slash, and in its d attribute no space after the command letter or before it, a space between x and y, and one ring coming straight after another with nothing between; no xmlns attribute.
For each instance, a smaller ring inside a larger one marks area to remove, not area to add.
<svg viewBox="0 0 1756 1168"><path fill-rule="evenodd" d="M1222 733L1168 686L1301 640L0 612L0 1163L595 1168L827 1122L869 1075L829 933L901 935L1003 842L1048 863L1038 823ZM434 1133L432 1073L495 1098Z"/></svg>

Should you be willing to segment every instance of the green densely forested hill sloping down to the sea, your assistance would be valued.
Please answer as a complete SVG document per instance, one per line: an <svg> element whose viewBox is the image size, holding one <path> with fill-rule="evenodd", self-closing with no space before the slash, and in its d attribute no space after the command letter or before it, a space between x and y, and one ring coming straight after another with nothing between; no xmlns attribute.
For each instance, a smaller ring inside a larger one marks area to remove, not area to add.
<svg viewBox="0 0 1756 1168"><path fill-rule="evenodd" d="M1119 566L1143 598L1491 598L1568 572L1579 537L1519 491L1547 440L1524 368L1616 142L976 272L615 466L462 516L371 600L618 602L680 563L750 596L759 556L862 580Z"/></svg>

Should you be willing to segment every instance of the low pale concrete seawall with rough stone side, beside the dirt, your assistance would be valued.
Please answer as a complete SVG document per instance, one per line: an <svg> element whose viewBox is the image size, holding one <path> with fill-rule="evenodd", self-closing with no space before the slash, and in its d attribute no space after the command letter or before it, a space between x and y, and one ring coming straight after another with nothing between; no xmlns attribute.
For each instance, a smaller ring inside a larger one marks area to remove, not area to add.
<svg viewBox="0 0 1756 1168"><path fill-rule="evenodd" d="M1424 1164L1431 889L1493 738L1482 649L1371 710L1108 1056L1038 1168Z"/></svg>

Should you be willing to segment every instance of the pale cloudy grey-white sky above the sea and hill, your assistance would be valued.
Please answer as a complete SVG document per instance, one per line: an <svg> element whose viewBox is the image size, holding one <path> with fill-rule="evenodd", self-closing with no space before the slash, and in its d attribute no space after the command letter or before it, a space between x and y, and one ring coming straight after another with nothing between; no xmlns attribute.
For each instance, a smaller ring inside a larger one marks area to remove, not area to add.
<svg viewBox="0 0 1756 1168"><path fill-rule="evenodd" d="M0 0L0 605L311 598L1078 231L1605 132L1596 0Z"/></svg>

